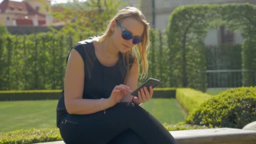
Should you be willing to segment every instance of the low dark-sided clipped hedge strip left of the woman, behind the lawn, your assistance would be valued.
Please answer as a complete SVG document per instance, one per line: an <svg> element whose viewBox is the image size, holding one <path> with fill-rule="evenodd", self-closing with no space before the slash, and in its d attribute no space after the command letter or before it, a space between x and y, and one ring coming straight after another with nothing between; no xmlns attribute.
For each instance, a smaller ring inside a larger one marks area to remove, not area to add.
<svg viewBox="0 0 256 144"><path fill-rule="evenodd" d="M0 101L59 99L61 90L0 91Z"/></svg>

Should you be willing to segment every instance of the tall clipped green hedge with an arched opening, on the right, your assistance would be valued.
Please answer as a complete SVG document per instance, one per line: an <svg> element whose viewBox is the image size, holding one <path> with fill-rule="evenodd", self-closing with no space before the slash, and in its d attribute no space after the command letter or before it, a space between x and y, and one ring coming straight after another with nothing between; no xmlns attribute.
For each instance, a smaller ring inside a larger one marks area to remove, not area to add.
<svg viewBox="0 0 256 144"><path fill-rule="evenodd" d="M243 35L242 69L256 70L256 5L249 3L181 5L172 11L168 24L172 87L207 88L205 37L209 29L225 25ZM243 72L243 86L255 85L255 76Z"/></svg>

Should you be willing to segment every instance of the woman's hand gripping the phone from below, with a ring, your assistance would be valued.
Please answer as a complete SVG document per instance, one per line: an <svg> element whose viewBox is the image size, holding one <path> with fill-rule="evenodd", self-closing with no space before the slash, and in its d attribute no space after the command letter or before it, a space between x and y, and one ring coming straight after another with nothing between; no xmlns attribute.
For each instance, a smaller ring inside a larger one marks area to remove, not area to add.
<svg viewBox="0 0 256 144"><path fill-rule="evenodd" d="M149 91L147 90L146 87L144 88L141 88L140 91L138 91L138 96L139 97L134 97L133 101L136 103L136 104L141 104L141 103L145 103L147 101L149 101L152 96L153 96L153 88L152 86L149 86Z"/></svg>

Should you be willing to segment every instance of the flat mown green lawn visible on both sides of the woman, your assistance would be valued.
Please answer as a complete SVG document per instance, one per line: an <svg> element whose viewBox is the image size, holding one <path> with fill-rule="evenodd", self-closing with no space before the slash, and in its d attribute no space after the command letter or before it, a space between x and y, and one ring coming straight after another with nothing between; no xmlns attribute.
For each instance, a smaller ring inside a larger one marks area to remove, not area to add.
<svg viewBox="0 0 256 144"><path fill-rule="evenodd" d="M0 132L56 128L57 103L57 100L0 101ZM161 123L176 124L185 120L176 99L152 99L141 106Z"/></svg>

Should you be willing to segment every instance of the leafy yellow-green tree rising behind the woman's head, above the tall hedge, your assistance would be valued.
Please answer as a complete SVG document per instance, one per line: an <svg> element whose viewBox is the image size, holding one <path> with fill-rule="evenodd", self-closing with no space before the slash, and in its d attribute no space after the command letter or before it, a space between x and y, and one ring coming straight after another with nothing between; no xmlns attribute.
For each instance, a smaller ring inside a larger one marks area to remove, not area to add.
<svg viewBox="0 0 256 144"><path fill-rule="evenodd" d="M65 21L63 32L103 32L107 22L117 13L118 10L128 5L122 0L87 0L79 2L74 0L66 4L59 4L64 11L54 12L53 17L59 21ZM51 27L55 32L56 29Z"/></svg>

